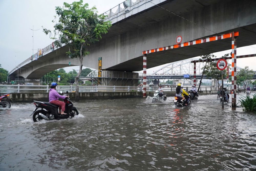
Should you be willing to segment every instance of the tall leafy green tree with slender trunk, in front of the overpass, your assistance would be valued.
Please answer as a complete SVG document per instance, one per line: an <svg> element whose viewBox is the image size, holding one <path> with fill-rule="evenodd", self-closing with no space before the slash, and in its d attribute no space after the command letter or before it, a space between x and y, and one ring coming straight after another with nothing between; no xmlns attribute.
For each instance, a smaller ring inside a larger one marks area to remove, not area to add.
<svg viewBox="0 0 256 171"><path fill-rule="evenodd" d="M111 27L110 21L104 22L105 16L98 15L96 7L89 8L83 1L72 4L63 3L63 7L56 7L59 22L54 25L54 37L57 47L62 44L69 46L66 52L71 58L78 58L80 62L76 80L76 100L79 100L78 78L83 67L83 58L89 55L88 46L99 41L102 34L106 34ZM56 18L56 17L55 17ZM55 22L54 20L52 21ZM43 29L45 34L51 30Z"/></svg>

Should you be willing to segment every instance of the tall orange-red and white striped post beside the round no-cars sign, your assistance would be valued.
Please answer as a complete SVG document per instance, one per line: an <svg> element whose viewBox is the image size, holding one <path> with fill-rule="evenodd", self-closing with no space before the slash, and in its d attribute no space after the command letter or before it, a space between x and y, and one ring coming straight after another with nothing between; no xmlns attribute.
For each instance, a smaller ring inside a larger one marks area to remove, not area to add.
<svg viewBox="0 0 256 171"><path fill-rule="evenodd" d="M236 106L237 103L237 39L232 33L232 107Z"/></svg>

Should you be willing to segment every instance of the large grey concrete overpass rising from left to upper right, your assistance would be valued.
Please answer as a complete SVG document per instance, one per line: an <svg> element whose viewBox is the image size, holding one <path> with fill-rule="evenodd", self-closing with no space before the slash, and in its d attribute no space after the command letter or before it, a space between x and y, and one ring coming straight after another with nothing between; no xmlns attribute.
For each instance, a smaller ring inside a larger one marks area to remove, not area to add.
<svg viewBox="0 0 256 171"><path fill-rule="evenodd" d="M84 58L83 66L97 68L98 57L102 57L103 70L140 71L142 51L175 45L178 35L183 43L239 31L237 47L253 45L256 40L254 0L142 0L124 10L118 6L117 11L111 9L106 14L113 26L89 47L90 55ZM50 47L44 48L46 51L38 60L21 63L18 70L10 72L10 77L39 79L49 71L78 65L76 59L65 54L67 46ZM147 68L228 49L230 38L155 52L147 55Z"/></svg>

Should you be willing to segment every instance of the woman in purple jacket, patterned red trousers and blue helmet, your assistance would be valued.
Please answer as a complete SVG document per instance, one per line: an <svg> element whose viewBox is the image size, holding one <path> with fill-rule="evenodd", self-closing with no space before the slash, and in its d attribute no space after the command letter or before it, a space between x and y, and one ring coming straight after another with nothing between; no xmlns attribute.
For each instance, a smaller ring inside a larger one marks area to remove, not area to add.
<svg viewBox="0 0 256 171"><path fill-rule="evenodd" d="M50 92L49 92L49 102L59 106L59 114L66 115L67 113L64 113L64 111L65 111L65 102L59 101L58 98L65 99L69 96L59 95L59 93L56 91L56 86L57 85L58 84L56 82L51 83L51 89L50 89Z"/></svg>

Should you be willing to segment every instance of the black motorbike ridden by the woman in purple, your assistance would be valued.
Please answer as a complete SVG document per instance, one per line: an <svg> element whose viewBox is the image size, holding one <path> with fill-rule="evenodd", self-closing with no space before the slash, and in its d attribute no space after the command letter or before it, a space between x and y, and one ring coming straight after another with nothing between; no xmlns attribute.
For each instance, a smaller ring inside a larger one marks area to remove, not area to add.
<svg viewBox="0 0 256 171"><path fill-rule="evenodd" d="M60 93L62 94L62 91L60 91ZM64 96L67 96L67 95L68 95L68 91L66 92L66 94L64 94ZM58 109L59 109L58 105L51 104L49 102L34 101L33 103L36 107L31 114L33 115L33 121L37 122L42 119L45 119L45 120L67 119L69 117L72 118L75 115L79 114L77 108L73 106L73 103L70 100L70 98L68 97L65 98L64 102L66 104L65 106L65 113L67 113L66 115L61 115L58 113ZM38 110L39 108L41 108L41 110Z"/></svg>

